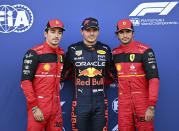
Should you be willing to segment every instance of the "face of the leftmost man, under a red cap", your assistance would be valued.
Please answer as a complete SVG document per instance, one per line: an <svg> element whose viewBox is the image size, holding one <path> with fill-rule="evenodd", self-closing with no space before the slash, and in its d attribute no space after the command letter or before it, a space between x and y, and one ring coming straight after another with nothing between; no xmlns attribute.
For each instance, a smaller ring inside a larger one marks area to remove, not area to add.
<svg viewBox="0 0 179 131"><path fill-rule="evenodd" d="M60 28L50 28L44 32L47 43L52 47L57 47L62 39L63 30Z"/></svg>

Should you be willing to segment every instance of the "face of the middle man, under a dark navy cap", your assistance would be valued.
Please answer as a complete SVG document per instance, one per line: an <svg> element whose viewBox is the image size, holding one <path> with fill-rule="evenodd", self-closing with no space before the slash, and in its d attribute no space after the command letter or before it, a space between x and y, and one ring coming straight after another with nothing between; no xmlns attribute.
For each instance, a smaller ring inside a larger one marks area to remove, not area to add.
<svg viewBox="0 0 179 131"><path fill-rule="evenodd" d="M86 30L81 30L81 34L83 35L83 41L85 44L93 45L96 44L99 35L99 30L94 27L91 27Z"/></svg>

